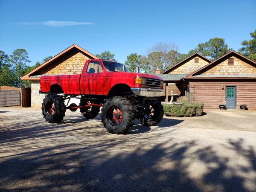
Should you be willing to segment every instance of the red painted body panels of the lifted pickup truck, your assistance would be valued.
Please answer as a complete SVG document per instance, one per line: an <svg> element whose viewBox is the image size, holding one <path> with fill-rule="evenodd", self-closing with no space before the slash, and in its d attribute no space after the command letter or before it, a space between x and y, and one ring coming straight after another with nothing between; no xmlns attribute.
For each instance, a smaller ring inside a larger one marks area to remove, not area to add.
<svg viewBox="0 0 256 192"><path fill-rule="evenodd" d="M85 73L90 61L99 61L102 73ZM101 59L87 60L81 75L42 76L41 91L48 93L52 85L58 84L65 94L72 95L108 95L116 84L126 84L129 87L145 87L135 83L136 77L163 80L158 76L144 73L127 73L106 71ZM163 89L163 87L161 87Z"/></svg>

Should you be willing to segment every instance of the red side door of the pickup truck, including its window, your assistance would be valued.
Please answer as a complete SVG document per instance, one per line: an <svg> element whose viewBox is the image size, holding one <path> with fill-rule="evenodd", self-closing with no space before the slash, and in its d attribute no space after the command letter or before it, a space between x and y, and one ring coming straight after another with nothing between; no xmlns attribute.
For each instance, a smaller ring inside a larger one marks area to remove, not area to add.
<svg viewBox="0 0 256 192"><path fill-rule="evenodd" d="M105 73L99 61L90 61L86 71L81 75L81 94L82 95L102 95L104 90Z"/></svg>

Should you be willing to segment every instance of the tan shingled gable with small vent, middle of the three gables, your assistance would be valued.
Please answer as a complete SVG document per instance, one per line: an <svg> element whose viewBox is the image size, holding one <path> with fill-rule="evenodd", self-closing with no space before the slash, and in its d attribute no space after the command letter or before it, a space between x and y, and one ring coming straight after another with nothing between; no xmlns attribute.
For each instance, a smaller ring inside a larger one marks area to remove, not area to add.
<svg viewBox="0 0 256 192"><path fill-rule="evenodd" d="M198 58L198 63L195 63L195 58ZM208 61L205 61L200 57L194 57L186 63L182 64L180 67L172 70L169 74L190 74L207 64L209 64Z"/></svg>

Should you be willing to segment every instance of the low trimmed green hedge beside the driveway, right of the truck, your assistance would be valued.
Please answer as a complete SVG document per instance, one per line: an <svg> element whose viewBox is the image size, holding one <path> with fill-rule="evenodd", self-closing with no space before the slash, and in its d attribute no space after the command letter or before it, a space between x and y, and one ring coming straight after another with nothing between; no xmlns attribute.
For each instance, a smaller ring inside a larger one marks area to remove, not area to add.
<svg viewBox="0 0 256 192"><path fill-rule="evenodd" d="M201 116L204 103L162 104L166 116Z"/></svg>

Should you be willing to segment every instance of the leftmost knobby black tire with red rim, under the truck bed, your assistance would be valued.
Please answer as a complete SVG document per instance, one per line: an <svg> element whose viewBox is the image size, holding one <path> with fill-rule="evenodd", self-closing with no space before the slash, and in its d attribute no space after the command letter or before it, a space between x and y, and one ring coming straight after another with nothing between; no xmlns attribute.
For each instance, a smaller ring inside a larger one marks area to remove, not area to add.
<svg viewBox="0 0 256 192"><path fill-rule="evenodd" d="M66 112L64 99L56 93L47 95L42 103L42 111L46 121L61 122Z"/></svg>

